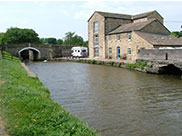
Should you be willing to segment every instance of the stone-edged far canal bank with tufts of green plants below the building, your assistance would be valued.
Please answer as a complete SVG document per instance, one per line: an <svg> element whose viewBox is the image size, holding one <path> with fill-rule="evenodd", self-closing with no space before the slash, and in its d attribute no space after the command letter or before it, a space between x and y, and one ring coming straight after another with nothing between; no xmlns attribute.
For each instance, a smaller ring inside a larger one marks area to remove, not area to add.
<svg viewBox="0 0 182 136"><path fill-rule="evenodd" d="M132 69L143 73L157 75L175 75L182 78L182 62L169 60L115 60L115 59L90 59L90 58L54 58L53 61L79 62L97 65L106 65Z"/></svg>

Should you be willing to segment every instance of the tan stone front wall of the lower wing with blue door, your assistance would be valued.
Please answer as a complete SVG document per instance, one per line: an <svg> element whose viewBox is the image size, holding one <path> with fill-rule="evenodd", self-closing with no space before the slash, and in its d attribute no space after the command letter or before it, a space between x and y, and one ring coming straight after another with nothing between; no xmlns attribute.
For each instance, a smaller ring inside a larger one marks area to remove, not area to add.
<svg viewBox="0 0 182 136"><path fill-rule="evenodd" d="M120 40L117 39L118 35L120 35ZM131 33L131 39L128 39L128 33L113 34L110 36L111 40L109 40L109 35L106 36L106 58L117 59L117 47L120 47L121 59L124 59L123 56L126 56L127 60L135 61L137 59L137 52L140 48L153 48L152 44L146 42L135 32ZM112 49L112 54L109 54L109 48ZM128 48L131 49L131 54L128 54Z"/></svg>

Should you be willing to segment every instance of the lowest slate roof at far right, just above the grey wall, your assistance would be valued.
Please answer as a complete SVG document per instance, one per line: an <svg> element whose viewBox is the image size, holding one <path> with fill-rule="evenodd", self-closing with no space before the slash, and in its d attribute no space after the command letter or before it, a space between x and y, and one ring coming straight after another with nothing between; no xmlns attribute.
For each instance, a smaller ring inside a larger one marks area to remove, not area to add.
<svg viewBox="0 0 182 136"><path fill-rule="evenodd" d="M182 46L182 38L176 38L171 34L156 34L149 32L136 31L140 37L149 43L157 46Z"/></svg>

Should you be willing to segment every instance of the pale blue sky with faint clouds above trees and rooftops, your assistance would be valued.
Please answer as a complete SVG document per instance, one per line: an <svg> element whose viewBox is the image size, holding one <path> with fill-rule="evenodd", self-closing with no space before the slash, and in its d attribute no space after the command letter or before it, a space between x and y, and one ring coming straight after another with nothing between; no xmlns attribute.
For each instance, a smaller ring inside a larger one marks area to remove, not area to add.
<svg viewBox="0 0 182 136"><path fill-rule="evenodd" d="M75 32L88 39L87 20L94 11L135 15L157 10L170 31L182 30L182 1L0 1L0 32L30 28L40 38L63 39Z"/></svg>

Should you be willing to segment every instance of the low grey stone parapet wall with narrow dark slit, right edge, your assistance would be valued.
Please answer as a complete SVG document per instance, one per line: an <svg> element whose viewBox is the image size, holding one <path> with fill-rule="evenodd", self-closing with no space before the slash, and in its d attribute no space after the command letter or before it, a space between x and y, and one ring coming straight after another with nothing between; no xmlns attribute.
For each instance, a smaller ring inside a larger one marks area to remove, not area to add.
<svg viewBox="0 0 182 136"><path fill-rule="evenodd" d="M137 59L182 61L182 49L140 49Z"/></svg>

